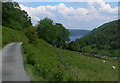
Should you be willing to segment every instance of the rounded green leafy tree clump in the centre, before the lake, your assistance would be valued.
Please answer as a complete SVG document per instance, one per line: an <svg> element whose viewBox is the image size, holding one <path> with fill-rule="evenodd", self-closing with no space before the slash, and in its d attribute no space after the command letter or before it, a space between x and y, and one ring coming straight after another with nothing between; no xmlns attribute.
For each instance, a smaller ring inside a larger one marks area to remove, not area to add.
<svg viewBox="0 0 120 83"><path fill-rule="evenodd" d="M39 21L37 32L39 38L57 47L63 46L66 41L69 41L68 30L60 23L53 23L49 18Z"/></svg>

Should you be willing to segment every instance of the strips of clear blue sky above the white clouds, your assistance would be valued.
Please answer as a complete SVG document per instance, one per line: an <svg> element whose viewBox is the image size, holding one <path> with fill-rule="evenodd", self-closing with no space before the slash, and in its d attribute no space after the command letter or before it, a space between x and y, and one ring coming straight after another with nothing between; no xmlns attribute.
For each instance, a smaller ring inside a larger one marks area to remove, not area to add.
<svg viewBox="0 0 120 83"><path fill-rule="evenodd" d="M59 3L64 3L65 5L73 8L88 7L86 2L19 2L20 4L23 4L28 7L38 7L38 6L46 6L46 5L58 5ZM112 8L118 6L118 2L106 2L111 5Z"/></svg>

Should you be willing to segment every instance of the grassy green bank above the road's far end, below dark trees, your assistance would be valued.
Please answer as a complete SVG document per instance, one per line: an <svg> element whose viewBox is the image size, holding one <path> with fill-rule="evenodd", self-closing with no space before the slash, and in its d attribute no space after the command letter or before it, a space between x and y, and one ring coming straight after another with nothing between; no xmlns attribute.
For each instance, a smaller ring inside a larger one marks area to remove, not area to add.
<svg viewBox="0 0 120 83"><path fill-rule="evenodd" d="M28 39L22 31L10 29L2 26L2 46L12 42L27 42Z"/></svg>

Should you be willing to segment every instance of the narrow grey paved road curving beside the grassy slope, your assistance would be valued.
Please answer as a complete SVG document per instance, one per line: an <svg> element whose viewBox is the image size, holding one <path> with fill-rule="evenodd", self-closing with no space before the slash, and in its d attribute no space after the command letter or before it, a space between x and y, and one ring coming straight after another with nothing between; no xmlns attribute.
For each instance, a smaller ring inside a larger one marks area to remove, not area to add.
<svg viewBox="0 0 120 83"><path fill-rule="evenodd" d="M2 81L30 81L24 71L21 43L11 43L2 50Z"/></svg>

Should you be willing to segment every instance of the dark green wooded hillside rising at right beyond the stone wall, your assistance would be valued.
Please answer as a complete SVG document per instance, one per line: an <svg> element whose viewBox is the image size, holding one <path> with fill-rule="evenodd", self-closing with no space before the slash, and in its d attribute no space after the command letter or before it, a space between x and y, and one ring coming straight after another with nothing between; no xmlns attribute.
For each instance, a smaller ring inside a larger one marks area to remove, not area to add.
<svg viewBox="0 0 120 83"><path fill-rule="evenodd" d="M118 57L120 20L112 21L95 28L89 34L76 40L80 51L101 54L104 56Z"/></svg>

